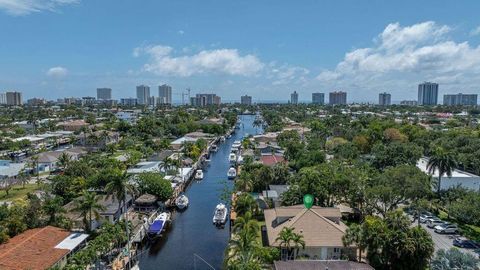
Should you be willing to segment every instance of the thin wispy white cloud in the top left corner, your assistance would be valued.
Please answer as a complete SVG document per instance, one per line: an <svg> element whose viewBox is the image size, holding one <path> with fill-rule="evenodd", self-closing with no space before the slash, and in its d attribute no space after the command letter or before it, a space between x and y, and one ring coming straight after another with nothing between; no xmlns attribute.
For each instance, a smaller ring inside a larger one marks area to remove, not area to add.
<svg viewBox="0 0 480 270"><path fill-rule="evenodd" d="M41 11L56 11L58 7L79 3L80 0L0 0L0 10L13 16Z"/></svg>

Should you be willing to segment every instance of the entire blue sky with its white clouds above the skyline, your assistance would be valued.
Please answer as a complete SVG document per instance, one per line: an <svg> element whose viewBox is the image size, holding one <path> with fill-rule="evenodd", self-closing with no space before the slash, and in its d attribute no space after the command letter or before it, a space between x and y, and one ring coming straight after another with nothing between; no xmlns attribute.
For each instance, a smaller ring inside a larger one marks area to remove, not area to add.
<svg viewBox="0 0 480 270"><path fill-rule="evenodd" d="M0 0L0 90L114 98L163 83L224 100L480 92L480 2ZM152 91L157 94L156 90Z"/></svg>

